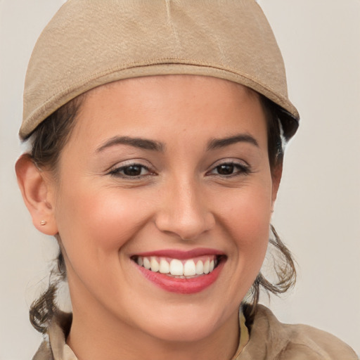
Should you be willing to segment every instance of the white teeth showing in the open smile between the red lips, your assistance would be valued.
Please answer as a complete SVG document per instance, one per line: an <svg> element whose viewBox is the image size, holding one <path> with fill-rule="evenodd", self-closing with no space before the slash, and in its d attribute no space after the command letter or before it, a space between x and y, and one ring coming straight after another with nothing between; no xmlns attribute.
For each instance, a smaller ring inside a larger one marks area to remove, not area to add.
<svg viewBox="0 0 360 360"><path fill-rule="evenodd" d="M196 278L211 274L224 259L224 255L203 255L191 259L176 259L158 256L131 257L139 266L171 278Z"/></svg>

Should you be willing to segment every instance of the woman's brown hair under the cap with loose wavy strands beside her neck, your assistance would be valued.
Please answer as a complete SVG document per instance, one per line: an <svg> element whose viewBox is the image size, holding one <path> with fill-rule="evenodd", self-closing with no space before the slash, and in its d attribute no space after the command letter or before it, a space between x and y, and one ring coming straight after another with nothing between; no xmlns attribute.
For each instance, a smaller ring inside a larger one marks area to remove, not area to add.
<svg viewBox="0 0 360 360"><path fill-rule="evenodd" d="M84 94L63 105L41 122L31 134L30 156L37 167L47 167L56 173L59 155L70 138L83 97ZM283 163L283 140L281 137L281 114L283 110L262 95L260 95L260 102L267 120L269 164L271 170L274 170L277 166L282 166ZM260 288L268 293L279 295L285 293L295 284L296 271L293 257L273 226L271 226L271 230L274 233L274 238L269 239L269 244L274 247L278 254L274 264L276 281L266 280L261 272L258 274L252 288L250 288L252 299L247 307L250 309L247 311L250 314L255 314ZM60 242L60 236L57 235L56 239ZM56 293L60 281L65 280L65 262L59 249L56 266L51 271L49 278L49 287L30 307L30 322L40 333L46 333L53 314L58 311Z"/></svg>

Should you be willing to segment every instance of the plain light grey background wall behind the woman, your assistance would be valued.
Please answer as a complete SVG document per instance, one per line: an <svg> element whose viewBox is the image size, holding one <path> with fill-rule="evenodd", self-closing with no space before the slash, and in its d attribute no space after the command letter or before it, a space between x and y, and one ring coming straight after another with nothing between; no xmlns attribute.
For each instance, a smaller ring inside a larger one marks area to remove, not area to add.
<svg viewBox="0 0 360 360"><path fill-rule="evenodd" d="M13 165L27 60L63 2L0 0L0 360L31 359L41 340L27 311L46 284L54 241L33 229ZM328 330L360 354L360 1L259 3L302 115L274 213L299 278L270 307L281 321Z"/></svg>

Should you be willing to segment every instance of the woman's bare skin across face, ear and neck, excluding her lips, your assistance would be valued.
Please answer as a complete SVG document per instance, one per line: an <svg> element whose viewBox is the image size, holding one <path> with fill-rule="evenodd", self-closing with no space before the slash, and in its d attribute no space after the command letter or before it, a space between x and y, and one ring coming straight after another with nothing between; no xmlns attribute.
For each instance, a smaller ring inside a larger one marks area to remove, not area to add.
<svg viewBox="0 0 360 360"><path fill-rule="evenodd" d="M110 145L114 136L162 150ZM140 176L125 176L133 163ZM224 163L234 164L231 174L221 173ZM84 97L57 170L39 172L27 155L17 164L34 225L61 238L74 316L67 342L78 359L231 359L281 178L269 167L257 94L184 75L100 86ZM191 295L158 288L130 259L194 248L219 250L226 262L214 284Z"/></svg>

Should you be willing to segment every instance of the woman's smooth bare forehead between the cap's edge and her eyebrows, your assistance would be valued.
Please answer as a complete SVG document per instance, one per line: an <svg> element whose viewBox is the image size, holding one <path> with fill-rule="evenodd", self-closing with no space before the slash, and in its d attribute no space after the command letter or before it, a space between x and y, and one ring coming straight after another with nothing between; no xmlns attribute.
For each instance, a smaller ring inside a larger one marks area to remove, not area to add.
<svg viewBox="0 0 360 360"><path fill-rule="evenodd" d="M233 131L266 139L258 94L228 80L195 75L125 79L92 89L84 96L74 129L77 141L181 132L205 138Z"/></svg>

